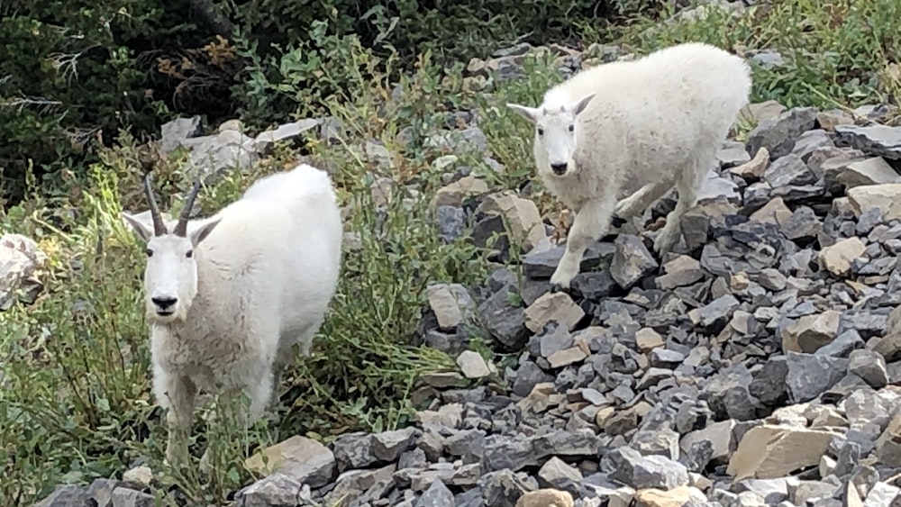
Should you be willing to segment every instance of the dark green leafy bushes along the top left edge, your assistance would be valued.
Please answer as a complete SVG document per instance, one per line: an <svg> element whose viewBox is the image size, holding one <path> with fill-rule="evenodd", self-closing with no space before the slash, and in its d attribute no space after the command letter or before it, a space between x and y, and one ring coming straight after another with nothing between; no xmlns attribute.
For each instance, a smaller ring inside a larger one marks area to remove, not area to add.
<svg viewBox="0 0 901 507"><path fill-rule="evenodd" d="M308 113L308 95L343 89L341 76L323 83L310 71L320 65L343 69L348 62L333 49L348 37L383 57L396 52L410 68L426 50L444 62L485 56L520 40L578 41L607 17L662 3L35 0L16 9L0 4L5 41L0 136L7 141L0 148L0 198L18 200L30 170L46 175L45 191L68 191L67 170L84 182L84 167L96 161L96 148L108 146L116 131L155 135L170 112L201 114L210 122L242 113L258 124ZM305 88L315 93L286 95Z"/></svg>

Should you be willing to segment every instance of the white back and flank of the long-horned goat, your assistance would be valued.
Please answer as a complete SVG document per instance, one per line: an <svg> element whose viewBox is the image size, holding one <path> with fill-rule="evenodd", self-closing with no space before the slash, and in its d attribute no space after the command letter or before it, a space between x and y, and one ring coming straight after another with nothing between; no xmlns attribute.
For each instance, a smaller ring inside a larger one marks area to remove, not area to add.
<svg viewBox="0 0 901 507"><path fill-rule="evenodd" d="M202 243L232 271L235 291L268 306L283 329L325 312L340 271L341 212L326 173L305 164L263 177L219 213ZM241 283L239 283L241 280Z"/></svg>

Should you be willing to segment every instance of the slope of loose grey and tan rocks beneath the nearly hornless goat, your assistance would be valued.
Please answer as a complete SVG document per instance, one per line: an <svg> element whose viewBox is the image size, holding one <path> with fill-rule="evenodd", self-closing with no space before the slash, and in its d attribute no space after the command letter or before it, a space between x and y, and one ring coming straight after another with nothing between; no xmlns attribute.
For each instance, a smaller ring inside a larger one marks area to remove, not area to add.
<svg viewBox="0 0 901 507"><path fill-rule="evenodd" d="M566 292L535 204L458 171L435 200L441 234L472 219L477 244L506 236L498 260L524 244L524 279L429 287L423 342L459 372L423 377L417 423L287 439L266 466L250 457L268 476L235 502L901 505L901 128L881 108L749 113L758 127L724 143L676 251L649 249L670 195L597 241ZM509 361L470 347L485 335ZM150 505L135 484L43 504Z"/></svg>

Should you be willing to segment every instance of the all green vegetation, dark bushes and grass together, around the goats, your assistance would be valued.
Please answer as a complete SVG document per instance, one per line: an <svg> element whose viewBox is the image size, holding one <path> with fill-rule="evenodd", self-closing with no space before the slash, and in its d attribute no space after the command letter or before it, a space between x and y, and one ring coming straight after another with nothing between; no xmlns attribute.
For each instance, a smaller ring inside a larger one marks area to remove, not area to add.
<svg viewBox="0 0 901 507"><path fill-rule="evenodd" d="M531 175L531 133L503 104L531 103L560 79L551 56L535 57L524 62L527 78L476 90L463 72L469 57L520 40L615 43L639 53L700 40L748 56L778 52L775 65L755 64L755 101L852 107L894 104L901 92L894 0L782 0L668 23L659 20L669 9L639 12L649 3L626 0L600 10L587 0L375 4L255 0L220 11L197 0L0 4L0 40L8 41L0 48L0 167L9 200L0 232L28 235L50 257L41 298L0 312L4 504L29 504L60 482L121 474L139 457L164 471L139 247L118 213L144 205L141 144L177 115L202 114L211 128L241 117L259 131L329 114L347 127L344 143L311 136L305 151L341 167L336 182L359 249L346 258L316 355L286 378L290 411L250 433L228 425L200 432L198 444L237 451L297 432L328 439L403 425L416 376L451 366L411 340L423 288L478 281L487 263L463 240L437 239L428 197L442 185L432 162L445 153L423 140L446 123L444 113L478 110L489 149L507 169L493 171L475 151L456 153L459 163L496 188L520 188ZM396 154L388 167L353 149L373 139ZM295 158L296 149L280 146L248 174L226 177L202 194L205 211ZM152 166L162 188L187 187L184 158ZM397 186L378 209L369 190L378 177L415 185L422 196L405 199ZM542 211L555 205L537 199ZM231 457L209 479L173 472L159 481L178 484L195 502L220 502L250 479L238 454L223 455Z"/></svg>

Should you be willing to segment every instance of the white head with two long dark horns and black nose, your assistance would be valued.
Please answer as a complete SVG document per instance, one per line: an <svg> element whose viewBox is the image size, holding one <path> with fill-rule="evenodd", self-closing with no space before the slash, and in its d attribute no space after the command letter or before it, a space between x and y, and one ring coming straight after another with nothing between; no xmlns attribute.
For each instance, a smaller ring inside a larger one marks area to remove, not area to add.
<svg viewBox="0 0 901 507"><path fill-rule="evenodd" d="M123 213L123 218L147 245L147 266L144 269L147 317L158 323L184 320L197 294L195 249L221 219L191 223L189 227L188 215L200 191L199 180L187 196L185 207L174 225L164 222L159 213L150 187L150 176L144 177L144 189L150 202L153 228L150 229L149 224L131 214Z"/></svg>

